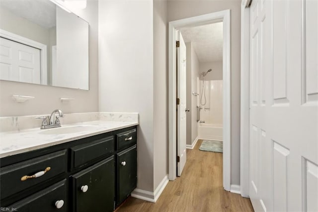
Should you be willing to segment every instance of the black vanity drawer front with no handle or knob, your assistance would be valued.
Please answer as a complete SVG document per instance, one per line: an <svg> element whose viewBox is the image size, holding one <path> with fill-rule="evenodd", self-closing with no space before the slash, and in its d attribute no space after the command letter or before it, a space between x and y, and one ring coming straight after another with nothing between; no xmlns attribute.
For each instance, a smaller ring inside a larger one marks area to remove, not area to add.
<svg viewBox="0 0 318 212"><path fill-rule="evenodd" d="M81 166L100 156L110 154L114 151L114 137L101 138L90 143L71 148L72 168Z"/></svg>

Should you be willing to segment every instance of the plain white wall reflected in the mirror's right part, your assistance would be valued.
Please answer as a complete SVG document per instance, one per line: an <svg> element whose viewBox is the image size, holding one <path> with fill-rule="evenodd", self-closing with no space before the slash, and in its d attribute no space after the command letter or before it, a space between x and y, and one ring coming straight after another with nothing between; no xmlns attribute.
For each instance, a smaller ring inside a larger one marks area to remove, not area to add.
<svg viewBox="0 0 318 212"><path fill-rule="evenodd" d="M88 90L88 23L58 6L56 35L57 64L52 72L53 86Z"/></svg>

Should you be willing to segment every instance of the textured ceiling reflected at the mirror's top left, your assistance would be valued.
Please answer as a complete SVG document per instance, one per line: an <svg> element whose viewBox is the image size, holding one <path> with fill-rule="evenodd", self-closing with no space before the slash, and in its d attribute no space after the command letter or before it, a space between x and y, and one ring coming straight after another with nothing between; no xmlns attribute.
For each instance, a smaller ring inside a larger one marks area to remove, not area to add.
<svg viewBox="0 0 318 212"><path fill-rule="evenodd" d="M0 6L42 27L56 25L56 5L49 0L0 0Z"/></svg>

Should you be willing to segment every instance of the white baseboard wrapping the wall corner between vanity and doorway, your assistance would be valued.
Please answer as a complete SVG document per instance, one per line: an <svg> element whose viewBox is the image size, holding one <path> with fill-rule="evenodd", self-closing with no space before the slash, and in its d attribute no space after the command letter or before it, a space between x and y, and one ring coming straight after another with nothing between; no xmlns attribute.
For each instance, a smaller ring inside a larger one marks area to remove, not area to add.
<svg viewBox="0 0 318 212"><path fill-rule="evenodd" d="M141 189L135 189L131 193L131 196L134 198L148 201L148 202L156 203L158 198L160 197L162 191L164 190L165 186L168 184L168 182L169 182L168 175L166 175L161 180L158 187L155 189L155 192L149 192L149 191L145 191L145 190L141 190Z"/></svg>

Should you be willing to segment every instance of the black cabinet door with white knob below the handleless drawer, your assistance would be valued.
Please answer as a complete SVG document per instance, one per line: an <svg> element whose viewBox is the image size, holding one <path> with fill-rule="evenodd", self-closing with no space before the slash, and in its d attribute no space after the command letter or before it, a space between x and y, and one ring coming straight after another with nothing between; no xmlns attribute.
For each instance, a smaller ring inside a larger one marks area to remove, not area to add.
<svg viewBox="0 0 318 212"><path fill-rule="evenodd" d="M114 156L72 176L74 212L112 212L115 198Z"/></svg>

